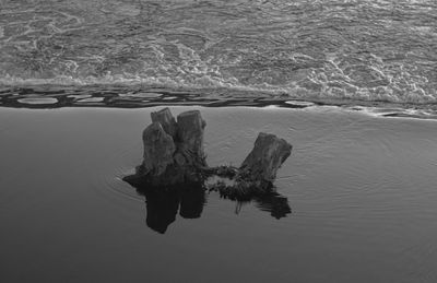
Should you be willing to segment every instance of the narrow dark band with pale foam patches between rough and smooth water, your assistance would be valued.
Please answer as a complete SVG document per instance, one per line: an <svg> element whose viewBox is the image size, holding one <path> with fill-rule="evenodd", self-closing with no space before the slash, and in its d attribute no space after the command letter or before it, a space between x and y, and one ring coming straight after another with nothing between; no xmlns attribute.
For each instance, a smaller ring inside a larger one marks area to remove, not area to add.
<svg viewBox="0 0 437 283"><path fill-rule="evenodd" d="M180 89L158 85L8 85L0 84L0 107L149 108L156 106L307 108L334 106L365 110L385 117L437 119L435 102L368 101L310 93L305 96L280 92L217 89Z"/></svg>

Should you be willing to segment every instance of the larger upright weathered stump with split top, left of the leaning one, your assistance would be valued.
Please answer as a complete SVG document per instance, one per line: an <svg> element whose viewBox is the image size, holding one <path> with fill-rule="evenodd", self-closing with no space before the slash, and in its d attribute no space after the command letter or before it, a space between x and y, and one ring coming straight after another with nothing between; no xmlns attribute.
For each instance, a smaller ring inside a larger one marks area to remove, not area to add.
<svg viewBox="0 0 437 283"><path fill-rule="evenodd" d="M206 166L203 150L205 121L199 110L186 111L177 122L168 108L152 113L143 131L143 163L125 180L151 187L201 182Z"/></svg>

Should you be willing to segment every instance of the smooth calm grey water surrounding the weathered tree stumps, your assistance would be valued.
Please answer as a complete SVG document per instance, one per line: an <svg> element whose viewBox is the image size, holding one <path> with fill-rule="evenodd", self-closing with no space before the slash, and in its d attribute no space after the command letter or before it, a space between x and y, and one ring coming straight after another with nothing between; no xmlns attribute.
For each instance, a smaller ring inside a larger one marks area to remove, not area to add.
<svg viewBox="0 0 437 283"><path fill-rule="evenodd" d="M292 213L277 220L275 205L211 192L179 203L160 234L120 180L141 162L157 108L0 108L2 280L437 280L436 121L335 107L172 110L192 108L208 123L211 165L238 165L259 131L294 145L275 182Z"/></svg>

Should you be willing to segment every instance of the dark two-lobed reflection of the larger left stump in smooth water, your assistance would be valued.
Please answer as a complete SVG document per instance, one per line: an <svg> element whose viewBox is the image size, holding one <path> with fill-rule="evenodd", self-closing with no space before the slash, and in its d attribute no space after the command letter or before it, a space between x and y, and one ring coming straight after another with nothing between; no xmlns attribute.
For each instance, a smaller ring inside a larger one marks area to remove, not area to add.
<svg viewBox="0 0 437 283"><path fill-rule="evenodd" d="M184 219L199 219L205 203L205 193L199 187L179 187L170 190L141 189L145 197L146 224L153 231L164 234L176 221L176 214Z"/></svg>

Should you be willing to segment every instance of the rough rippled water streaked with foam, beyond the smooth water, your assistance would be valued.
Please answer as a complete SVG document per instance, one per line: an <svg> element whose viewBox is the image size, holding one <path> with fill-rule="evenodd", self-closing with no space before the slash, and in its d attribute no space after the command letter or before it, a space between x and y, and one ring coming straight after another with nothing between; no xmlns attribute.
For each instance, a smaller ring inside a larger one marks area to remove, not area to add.
<svg viewBox="0 0 437 283"><path fill-rule="evenodd" d="M182 90L435 108L436 50L434 0L0 2L3 105Z"/></svg>

